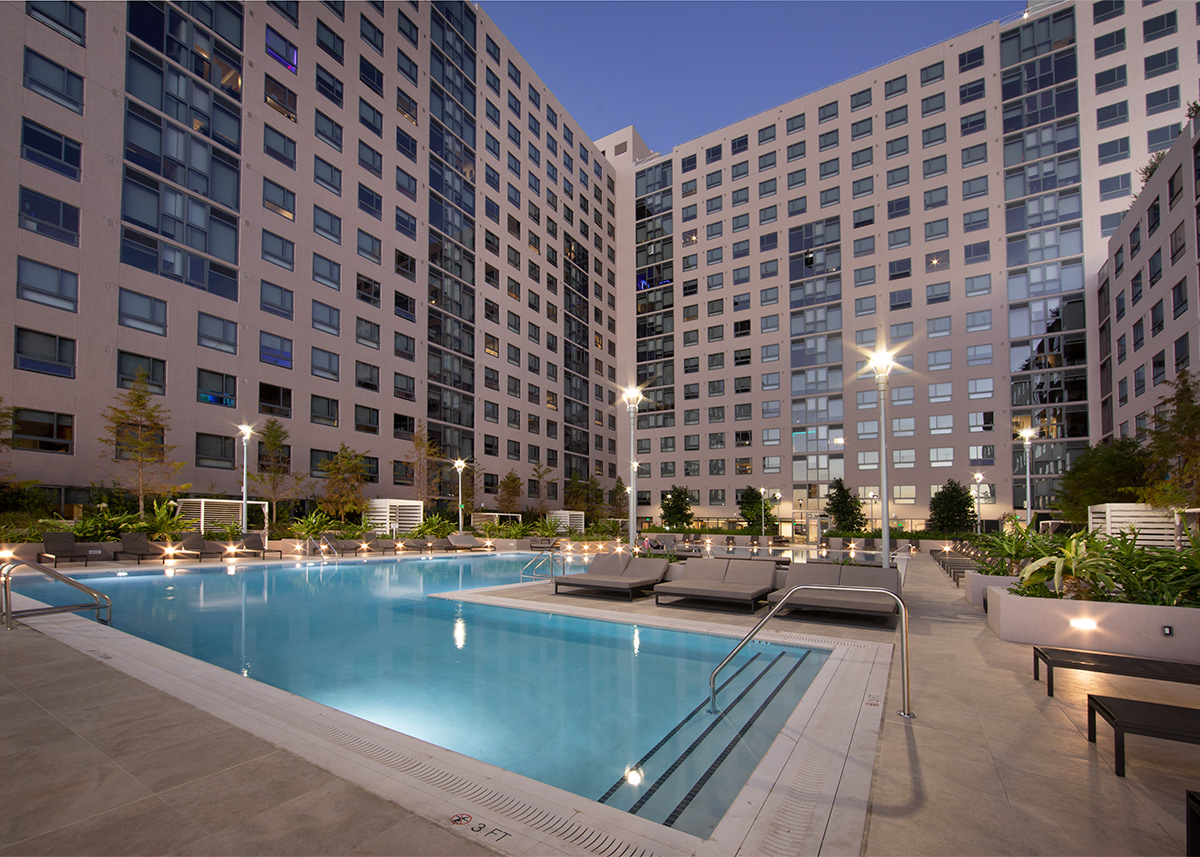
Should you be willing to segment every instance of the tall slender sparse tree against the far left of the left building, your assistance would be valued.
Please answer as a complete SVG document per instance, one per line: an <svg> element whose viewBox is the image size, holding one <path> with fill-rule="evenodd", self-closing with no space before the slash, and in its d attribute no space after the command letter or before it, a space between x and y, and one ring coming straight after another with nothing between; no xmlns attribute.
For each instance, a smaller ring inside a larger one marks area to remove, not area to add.
<svg viewBox="0 0 1200 857"><path fill-rule="evenodd" d="M148 495L173 495L191 487L176 483L182 461L169 461L175 444L167 443L170 412L155 404L149 376L138 372L133 384L119 394L101 414L104 433L100 442L110 450L108 461L116 465L115 481L138 498L138 519L145 519Z"/></svg>

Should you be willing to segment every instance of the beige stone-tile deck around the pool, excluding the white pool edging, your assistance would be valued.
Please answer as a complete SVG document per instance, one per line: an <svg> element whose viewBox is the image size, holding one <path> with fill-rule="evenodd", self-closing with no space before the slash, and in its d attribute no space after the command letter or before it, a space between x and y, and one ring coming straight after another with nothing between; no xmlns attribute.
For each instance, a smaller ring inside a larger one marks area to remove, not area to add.
<svg viewBox="0 0 1200 857"><path fill-rule="evenodd" d="M896 654L858 853L1183 853L1200 747L1132 737L1118 778L1111 730L1087 742L1086 699L1200 708L1200 687L1062 671L1050 699L1031 647L998 640L926 553L910 563L904 595L917 717L896 714ZM553 595L550 583L506 597L744 628L764 612ZM847 641L898 636L870 621L775 623ZM0 630L0 857L496 852L491 828L431 821L428 805L380 797L102 658L31 628Z"/></svg>

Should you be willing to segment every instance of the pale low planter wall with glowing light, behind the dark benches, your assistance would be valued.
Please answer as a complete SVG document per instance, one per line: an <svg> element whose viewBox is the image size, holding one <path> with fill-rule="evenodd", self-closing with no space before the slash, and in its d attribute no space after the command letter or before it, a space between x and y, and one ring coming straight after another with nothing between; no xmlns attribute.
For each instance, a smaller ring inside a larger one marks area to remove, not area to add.
<svg viewBox="0 0 1200 857"><path fill-rule="evenodd" d="M1072 628L1072 619L1090 619L1096 627ZM1171 636L1163 636L1166 625ZM992 587L988 627L1008 642L1200 664L1200 609L1195 607L1022 598Z"/></svg>

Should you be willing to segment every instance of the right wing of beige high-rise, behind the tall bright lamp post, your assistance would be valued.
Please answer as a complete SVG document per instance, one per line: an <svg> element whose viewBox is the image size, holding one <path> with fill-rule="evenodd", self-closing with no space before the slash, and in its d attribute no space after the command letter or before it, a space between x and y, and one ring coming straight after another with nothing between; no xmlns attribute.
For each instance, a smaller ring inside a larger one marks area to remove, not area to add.
<svg viewBox="0 0 1200 857"><path fill-rule="evenodd" d="M640 514L678 484L736 519L763 487L815 535L830 480L877 510L886 466L894 519L922 521L947 479L995 519L1025 507L1025 427L1046 509L1103 433L1086 283L1196 97L1196 16L1031 4L668 155L602 139L635 152L613 160L636 197ZM877 350L896 362L883 424Z"/></svg>

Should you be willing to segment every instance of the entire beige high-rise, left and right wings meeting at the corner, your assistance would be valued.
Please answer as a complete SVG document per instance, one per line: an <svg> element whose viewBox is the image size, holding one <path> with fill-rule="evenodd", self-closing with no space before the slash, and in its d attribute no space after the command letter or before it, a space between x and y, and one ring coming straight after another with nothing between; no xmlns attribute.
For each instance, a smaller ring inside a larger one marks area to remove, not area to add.
<svg viewBox="0 0 1200 857"><path fill-rule="evenodd" d="M145 372L181 478L230 495L235 426L275 416L318 478L344 444L410 496L424 425L442 502L463 457L480 502L515 472L560 507L628 480L637 384L642 519L672 485L714 521L762 487L816 534L829 481L865 501L881 467L900 520L976 472L994 519L1025 507L1025 427L1046 509L1121 421L1096 272L1200 79L1195 5L1031 2L658 154L593 142L469 4L0 16L0 394L17 475L66 503L109 479L100 412Z"/></svg>

